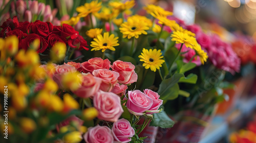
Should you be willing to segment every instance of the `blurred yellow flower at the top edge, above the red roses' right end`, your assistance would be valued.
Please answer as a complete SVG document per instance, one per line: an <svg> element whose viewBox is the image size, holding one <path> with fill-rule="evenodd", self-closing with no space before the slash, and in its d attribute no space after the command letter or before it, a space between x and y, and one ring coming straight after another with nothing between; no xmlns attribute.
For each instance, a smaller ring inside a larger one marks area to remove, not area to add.
<svg viewBox="0 0 256 143"><path fill-rule="evenodd" d="M86 3L83 6L77 7L76 11L79 13L78 16L86 17L90 13L96 13L101 9L101 2L92 1L91 3Z"/></svg>

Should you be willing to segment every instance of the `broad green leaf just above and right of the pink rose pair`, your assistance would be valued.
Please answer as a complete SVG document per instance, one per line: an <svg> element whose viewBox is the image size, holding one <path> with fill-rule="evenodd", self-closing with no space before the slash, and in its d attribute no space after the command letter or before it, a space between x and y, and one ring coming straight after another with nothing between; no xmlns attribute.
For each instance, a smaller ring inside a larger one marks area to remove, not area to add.
<svg viewBox="0 0 256 143"><path fill-rule="evenodd" d="M161 82L158 89L158 94L161 99L175 99L178 97L179 90L174 89L173 87L177 87L179 89L179 85L177 84L181 77L184 77L183 74L174 74L172 77L165 79Z"/></svg>

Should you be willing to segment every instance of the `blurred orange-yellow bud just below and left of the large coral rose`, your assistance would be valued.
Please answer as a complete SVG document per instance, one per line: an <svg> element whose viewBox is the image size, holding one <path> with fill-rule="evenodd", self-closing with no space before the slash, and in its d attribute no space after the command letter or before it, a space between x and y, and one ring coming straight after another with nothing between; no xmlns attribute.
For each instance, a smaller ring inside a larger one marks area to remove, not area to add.
<svg viewBox="0 0 256 143"><path fill-rule="evenodd" d="M64 103L64 108L62 111L64 113L69 112L70 110L79 108L79 104L77 103L77 101L68 93L66 93L63 96L63 103Z"/></svg>

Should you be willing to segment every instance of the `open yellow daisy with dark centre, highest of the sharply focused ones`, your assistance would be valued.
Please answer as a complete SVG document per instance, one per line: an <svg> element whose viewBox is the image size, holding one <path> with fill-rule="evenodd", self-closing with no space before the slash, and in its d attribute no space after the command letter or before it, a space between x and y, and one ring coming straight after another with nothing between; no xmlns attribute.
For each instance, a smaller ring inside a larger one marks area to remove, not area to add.
<svg viewBox="0 0 256 143"><path fill-rule="evenodd" d="M123 38L127 37L131 39L132 37L139 38L141 34L147 34L145 30L150 29L147 23L140 21L139 19L128 18L127 22L121 24L119 28L120 32L123 34Z"/></svg>

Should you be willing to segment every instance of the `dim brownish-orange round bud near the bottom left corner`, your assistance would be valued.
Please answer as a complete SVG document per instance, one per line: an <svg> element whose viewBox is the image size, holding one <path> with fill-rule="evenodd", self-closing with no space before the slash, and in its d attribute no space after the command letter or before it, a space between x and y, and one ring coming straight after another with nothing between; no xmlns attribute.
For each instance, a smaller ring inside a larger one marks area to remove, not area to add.
<svg viewBox="0 0 256 143"><path fill-rule="evenodd" d="M36 124L31 118L23 117L20 119L20 127L24 132L31 133L36 129Z"/></svg>

